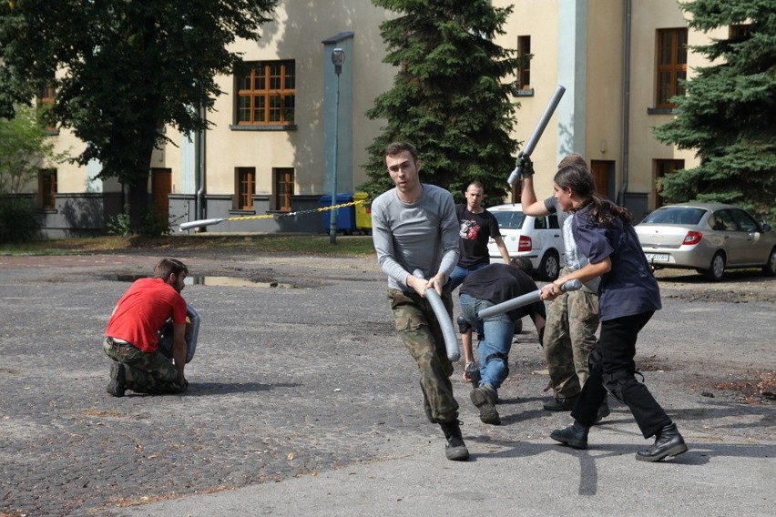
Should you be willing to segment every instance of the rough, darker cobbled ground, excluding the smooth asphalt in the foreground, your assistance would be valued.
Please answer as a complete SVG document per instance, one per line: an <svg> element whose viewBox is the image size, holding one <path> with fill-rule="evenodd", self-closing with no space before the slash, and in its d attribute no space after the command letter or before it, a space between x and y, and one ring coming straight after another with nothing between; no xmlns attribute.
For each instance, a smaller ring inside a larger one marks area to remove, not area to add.
<svg viewBox="0 0 776 517"><path fill-rule="evenodd" d="M0 257L0 515L118 515L441 446L373 258L164 253L205 281L183 291L202 315L189 391L122 399L105 392L101 335L122 279L147 275L159 256ZM217 277L277 287L208 284ZM638 345L650 390L693 441L776 441L776 281L658 277L664 310ZM541 410L546 372L524 328L501 390L504 426L478 421L456 365L467 442L536 439L567 423ZM614 407L614 425L633 433Z"/></svg>

